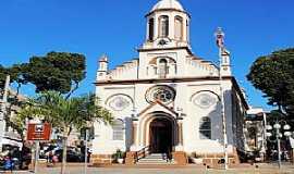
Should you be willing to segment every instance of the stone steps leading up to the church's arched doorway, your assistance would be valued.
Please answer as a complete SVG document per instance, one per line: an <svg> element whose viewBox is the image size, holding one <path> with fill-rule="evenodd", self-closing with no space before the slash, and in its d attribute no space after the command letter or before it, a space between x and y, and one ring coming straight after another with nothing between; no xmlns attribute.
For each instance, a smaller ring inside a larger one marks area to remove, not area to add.
<svg viewBox="0 0 294 174"><path fill-rule="evenodd" d="M172 165L175 164L174 160L167 160L166 153L151 153L147 157L139 159L137 165Z"/></svg>

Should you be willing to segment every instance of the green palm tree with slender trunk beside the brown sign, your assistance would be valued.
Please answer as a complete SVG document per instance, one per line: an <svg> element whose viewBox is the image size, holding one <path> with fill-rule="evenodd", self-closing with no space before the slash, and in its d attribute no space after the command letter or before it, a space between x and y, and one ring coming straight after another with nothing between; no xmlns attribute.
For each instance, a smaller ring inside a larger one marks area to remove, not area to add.
<svg viewBox="0 0 294 174"><path fill-rule="evenodd" d="M62 133L63 152L61 174L65 172L66 145L71 132L87 126L88 122L103 122L111 124L112 115L108 110L99 105L95 95L89 94L81 97L66 99L56 91L40 94L36 100L36 108L41 109L44 120L51 123L52 127Z"/></svg>

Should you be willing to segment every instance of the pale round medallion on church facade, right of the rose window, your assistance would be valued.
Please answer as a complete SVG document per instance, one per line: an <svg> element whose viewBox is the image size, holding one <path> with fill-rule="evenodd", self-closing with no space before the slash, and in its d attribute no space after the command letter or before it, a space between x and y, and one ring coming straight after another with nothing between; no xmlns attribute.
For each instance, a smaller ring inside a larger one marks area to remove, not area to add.
<svg viewBox="0 0 294 174"><path fill-rule="evenodd" d="M217 103L218 99L213 94L201 92L193 100L194 104L203 109L208 109Z"/></svg>

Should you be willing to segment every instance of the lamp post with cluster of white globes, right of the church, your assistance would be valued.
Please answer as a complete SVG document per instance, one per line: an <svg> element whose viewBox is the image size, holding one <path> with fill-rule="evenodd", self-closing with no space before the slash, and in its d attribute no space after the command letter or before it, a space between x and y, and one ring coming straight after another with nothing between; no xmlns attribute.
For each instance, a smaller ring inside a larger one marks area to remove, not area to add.
<svg viewBox="0 0 294 174"><path fill-rule="evenodd" d="M284 125L282 126L281 123L284 123ZM277 121L273 125L267 125L267 137L275 137L277 141L277 146L278 146L278 165L279 169L281 167L281 138L283 137L283 135L285 137L290 137L292 135L292 133L290 132L291 126L289 124L286 124L285 121ZM284 134L281 133L281 130L284 130Z"/></svg>

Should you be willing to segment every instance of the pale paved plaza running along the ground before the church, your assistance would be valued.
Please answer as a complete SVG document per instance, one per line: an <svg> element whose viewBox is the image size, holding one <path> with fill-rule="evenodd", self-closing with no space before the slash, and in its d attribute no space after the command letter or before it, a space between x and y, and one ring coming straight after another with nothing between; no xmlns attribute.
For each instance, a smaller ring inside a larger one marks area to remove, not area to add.
<svg viewBox="0 0 294 174"><path fill-rule="evenodd" d="M60 167L40 167L38 174L59 174ZM1 172L0 172L1 173ZM32 174L32 172L13 172L14 174ZM293 174L294 165L283 165L281 170L277 165L260 164L258 169L252 165L236 166L228 171L205 170L201 166L183 167L89 167L87 174ZM2 173L1 173L2 174ZM68 166L66 174L84 174L82 165Z"/></svg>

